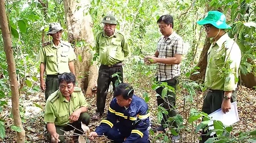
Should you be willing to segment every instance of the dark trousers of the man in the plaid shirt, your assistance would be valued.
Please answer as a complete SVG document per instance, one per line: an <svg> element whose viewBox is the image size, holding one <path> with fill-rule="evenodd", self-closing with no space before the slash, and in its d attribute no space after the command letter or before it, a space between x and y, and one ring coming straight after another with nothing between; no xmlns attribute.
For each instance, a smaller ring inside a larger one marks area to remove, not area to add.
<svg viewBox="0 0 256 143"><path fill-rule="evenodd" d="M169 86L172 86L176 90L177 84L179 84L179 78L174 77L173 79L166 80L166 81L161 81L161 82L166 82ZM166 123L168 118L172 116L176 116L177 112L175 111L175 105L176 105L176 94L171 91L167 91L167 96L162 98L162 91L163 87L159 87L156 89L156 93L158 93L160 96L157 96L157 102L158 106L164 107L168 111L168 114L163 114L163 119L161 121L161 125L171 125L172 127L177 128L177 123L176 122L171 122L171 123Z"/></svg>

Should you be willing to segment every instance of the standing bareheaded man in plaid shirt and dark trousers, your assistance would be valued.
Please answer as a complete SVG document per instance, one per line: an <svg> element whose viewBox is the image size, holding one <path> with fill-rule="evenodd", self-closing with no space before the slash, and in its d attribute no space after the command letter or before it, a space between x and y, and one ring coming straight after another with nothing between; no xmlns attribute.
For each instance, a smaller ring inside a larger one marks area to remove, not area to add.
<svg viewBox="0 0 256 143"><path fill-rule="evenodd" d="M174 32L174 19L171 15L162 15L158 21L160 32L163 36L158 41L156 52L153 56L144 58L146 64L157 63L158 74L157 81L166 82L169 86L176 89L179 83L180 75L180 62L184 54L183 39ZM168 111L168 115L163 115L161 125L156 128L156 131L165 131L168 125L171 128L177 128L176 122L167 123L168 118L176 116L174 109L176 102L176 94L168 90L165 99L162 98L162 90L164 87L156 89L158 93L157 102L158 106L164 107ZM173 136L173 141L179 140L179 136Z"/></svg>

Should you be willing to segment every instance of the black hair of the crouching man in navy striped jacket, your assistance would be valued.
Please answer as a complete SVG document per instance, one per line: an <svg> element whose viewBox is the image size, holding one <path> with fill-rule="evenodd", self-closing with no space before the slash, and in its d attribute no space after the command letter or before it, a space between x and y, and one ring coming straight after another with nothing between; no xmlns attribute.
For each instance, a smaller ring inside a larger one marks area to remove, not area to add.
<svg viewBox="0 0 256 143"><path fill-rule="evenodd" d="M127 100L133 97L133 93L134 93L134 90L131 85L127 83L122 83L115 88L114 97L122 96L123 99Z"/></svg>

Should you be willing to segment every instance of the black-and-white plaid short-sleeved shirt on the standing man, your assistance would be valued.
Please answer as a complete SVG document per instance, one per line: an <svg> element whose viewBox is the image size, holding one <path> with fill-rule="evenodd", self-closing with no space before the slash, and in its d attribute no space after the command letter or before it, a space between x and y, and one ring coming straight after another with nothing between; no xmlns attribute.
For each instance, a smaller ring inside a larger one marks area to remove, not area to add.
<svg viewBox="0 0 256 143"><path fill-rule="evenodd" d="M175 54L185 54L184 42L182 38L172 33L167 40L163 37L158 41L157 51L158 58L171 58ZM166 81L180 75L180 64L163 64L158 63L158 81Z"/></svg>

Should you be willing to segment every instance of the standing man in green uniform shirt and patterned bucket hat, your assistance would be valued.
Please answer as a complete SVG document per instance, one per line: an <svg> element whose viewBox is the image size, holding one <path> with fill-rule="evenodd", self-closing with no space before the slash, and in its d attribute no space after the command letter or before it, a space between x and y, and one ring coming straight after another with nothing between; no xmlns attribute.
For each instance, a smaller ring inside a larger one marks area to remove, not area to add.
<svg viewBox="0 0 256 143"><path fill-rule="evenodd" d="M40 62L40 87L45 91L46 100L49 95L58 89L58 76L64 72L75 74L74 60L76 55L71 44L61 41L63 28L59 23L49 24L47 35L52 36L52 41L46 42L38 54ZM44 72L46 82L44 82Z"/></svg>

